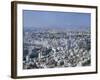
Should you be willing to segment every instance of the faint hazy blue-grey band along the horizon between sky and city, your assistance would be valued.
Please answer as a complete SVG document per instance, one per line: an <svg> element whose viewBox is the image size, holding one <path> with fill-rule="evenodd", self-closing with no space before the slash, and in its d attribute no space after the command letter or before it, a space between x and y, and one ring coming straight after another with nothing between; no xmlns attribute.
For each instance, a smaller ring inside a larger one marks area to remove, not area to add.
<svg viewBox="0 0 100 80"><path fill-rule="evenodd" d="M90 27L24 27L24 31L91 31Z"/></svg>

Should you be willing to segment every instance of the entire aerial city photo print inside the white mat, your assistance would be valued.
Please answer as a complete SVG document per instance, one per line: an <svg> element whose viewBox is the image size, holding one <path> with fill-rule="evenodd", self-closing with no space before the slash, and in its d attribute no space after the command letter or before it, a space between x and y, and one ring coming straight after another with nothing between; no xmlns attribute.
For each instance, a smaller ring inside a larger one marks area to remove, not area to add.
<svg viewBox="0 0 100 80"><path fill-rule="evenodd" d="M23 69L91 66L89 13L25 10L23 15Z"/></svg>

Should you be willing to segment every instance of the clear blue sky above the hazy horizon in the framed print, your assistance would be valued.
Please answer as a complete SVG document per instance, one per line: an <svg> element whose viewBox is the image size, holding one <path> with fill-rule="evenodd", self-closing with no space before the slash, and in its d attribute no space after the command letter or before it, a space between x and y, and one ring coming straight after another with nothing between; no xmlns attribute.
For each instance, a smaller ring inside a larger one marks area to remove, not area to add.
<svg viewBox="0 0 100 80"><path fill-rule="evenodd" d="M89 28L90 13L23 10L26 28Z"/></svg>

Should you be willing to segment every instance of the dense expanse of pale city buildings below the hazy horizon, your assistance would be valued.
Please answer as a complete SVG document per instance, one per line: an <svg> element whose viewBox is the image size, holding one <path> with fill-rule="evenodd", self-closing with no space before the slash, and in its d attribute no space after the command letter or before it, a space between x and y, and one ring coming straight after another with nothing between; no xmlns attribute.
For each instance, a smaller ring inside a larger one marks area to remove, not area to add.
<svg viewBox="0 0 100 80"><path fill-rule="evenodd" d="M91 65L89 31L24 31L23 69Z"/></svg>

